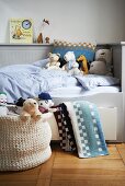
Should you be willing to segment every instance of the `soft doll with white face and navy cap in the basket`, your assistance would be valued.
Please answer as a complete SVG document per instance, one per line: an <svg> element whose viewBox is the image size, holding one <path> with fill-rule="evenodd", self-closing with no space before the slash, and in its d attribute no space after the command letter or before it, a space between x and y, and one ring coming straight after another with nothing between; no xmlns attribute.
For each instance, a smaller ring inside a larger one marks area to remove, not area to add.
<svg viewBox="0 0 125 186"><path fill-rule="evenodd" d="M38 95L38 109L41 113L56 112L56 108L52 108L54 102L50 95L46 92L42 92Z"/></svg>

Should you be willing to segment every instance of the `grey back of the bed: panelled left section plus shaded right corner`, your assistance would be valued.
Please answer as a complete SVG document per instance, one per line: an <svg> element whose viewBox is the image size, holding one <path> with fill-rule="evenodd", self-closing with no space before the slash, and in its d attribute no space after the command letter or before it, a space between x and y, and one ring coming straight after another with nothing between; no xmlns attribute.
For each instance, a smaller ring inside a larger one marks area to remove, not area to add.
<svg viewBox="0 0 125 186"><path fill-rule="evenodd" d="M52 51L53 44L1 44L0 67L15 63L32 63L39 59L47 58ZM120 44L99 44L98 48L113 49L113 71L116 78L122 77L122 46Z"/></svg>

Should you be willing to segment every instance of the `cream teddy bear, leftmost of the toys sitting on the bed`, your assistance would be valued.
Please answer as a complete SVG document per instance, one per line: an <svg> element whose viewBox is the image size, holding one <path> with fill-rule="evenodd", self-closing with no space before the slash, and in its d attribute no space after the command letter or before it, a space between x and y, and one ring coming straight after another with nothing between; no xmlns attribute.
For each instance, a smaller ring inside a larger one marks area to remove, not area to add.
<svg viewBox="0 0 125 186"><path fill-rule="evenodd" d="M60 55L49 53L48 57L49 57L49 62L46 65L46 68L47 69L59 69L60 62L58 60L59 60Z"/></svg>

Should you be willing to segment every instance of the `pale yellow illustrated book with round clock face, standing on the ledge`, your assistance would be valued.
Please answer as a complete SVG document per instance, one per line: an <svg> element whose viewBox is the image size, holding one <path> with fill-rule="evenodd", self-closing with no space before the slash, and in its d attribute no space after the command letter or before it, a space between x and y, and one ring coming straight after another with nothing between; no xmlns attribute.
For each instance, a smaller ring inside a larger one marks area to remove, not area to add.
<svg viewBox="0 0 125 186"><path fill-rule="evenodd" d="M33 21L31 19L10 20L10 43L33 43Z"/></svg>

